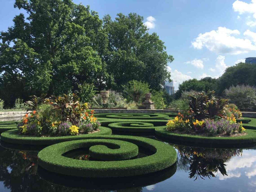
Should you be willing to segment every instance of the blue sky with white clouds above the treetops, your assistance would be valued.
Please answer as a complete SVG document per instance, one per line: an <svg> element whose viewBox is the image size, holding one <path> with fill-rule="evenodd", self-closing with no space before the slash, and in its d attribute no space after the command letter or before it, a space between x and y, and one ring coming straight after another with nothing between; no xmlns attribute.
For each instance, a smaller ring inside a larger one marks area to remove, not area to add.
<svg viewBox="0 0 256 192"><path fill-rule="evenodd" d="M100 18L135 12L165 42L172 79L178 83L190 78L219 77L228 67L246 57L256 57L256 0L172 0L120 1L74 0L90 5ZM13 25L22 10L14 1L0 0L0 31Z"/></svg>

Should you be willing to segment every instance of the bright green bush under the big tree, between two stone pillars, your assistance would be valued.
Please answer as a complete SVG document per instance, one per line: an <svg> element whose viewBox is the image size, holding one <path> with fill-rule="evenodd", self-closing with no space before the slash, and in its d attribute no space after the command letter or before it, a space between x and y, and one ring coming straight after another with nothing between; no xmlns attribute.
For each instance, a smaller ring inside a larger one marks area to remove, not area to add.
<svg viewBox="0 0 256 192"><path fill-rule="evenodd" d="M139 102L144 96L145 93L149 93L149 84L142 81L129 81L126 85L123 86L124 95L128 101Z"/></svg>

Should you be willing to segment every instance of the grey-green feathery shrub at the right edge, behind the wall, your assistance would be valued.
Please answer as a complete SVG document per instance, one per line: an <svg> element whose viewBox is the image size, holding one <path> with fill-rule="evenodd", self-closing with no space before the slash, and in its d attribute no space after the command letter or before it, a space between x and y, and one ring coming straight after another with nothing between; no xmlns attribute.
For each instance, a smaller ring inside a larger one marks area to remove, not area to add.
<svg viewBox="0 0 256 192"><path fill-rule="evenodd" d="M249 85L231 86L224 94L239 109L252 110L256 106L256 89Z"/></svg>

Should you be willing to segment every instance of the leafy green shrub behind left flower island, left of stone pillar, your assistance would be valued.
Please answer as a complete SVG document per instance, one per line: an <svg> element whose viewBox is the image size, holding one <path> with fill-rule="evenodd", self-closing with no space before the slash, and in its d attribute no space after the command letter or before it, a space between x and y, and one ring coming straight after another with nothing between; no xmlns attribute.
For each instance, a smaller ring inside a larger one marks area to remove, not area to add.
<svg viewBox="0 0 256 192"><path fill-rule="evenodd" d="M92 103L93 102L93 97L96 93L95 87L93 84L89 83L83 83L82 85L78 85L78 96L80 97L80 100L83 103Z"/></svg>

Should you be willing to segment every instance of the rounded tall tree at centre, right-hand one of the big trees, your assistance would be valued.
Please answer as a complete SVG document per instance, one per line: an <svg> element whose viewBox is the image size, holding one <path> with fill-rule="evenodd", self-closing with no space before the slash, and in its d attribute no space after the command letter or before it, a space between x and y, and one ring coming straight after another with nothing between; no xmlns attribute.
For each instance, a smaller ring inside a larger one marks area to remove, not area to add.
<svg viewBox="0 0 256 192"><path fill-rule="evenodd" d="M143 17L136 13L121 13L114 21L109 15L103 18L108 32L108 55L105 58L109 76L108 87L121 90L131 80L144 81L151 89L161 89L170 79L167 63L173 56L166 53L164 42L156 33L148 34Z"/></svg>

